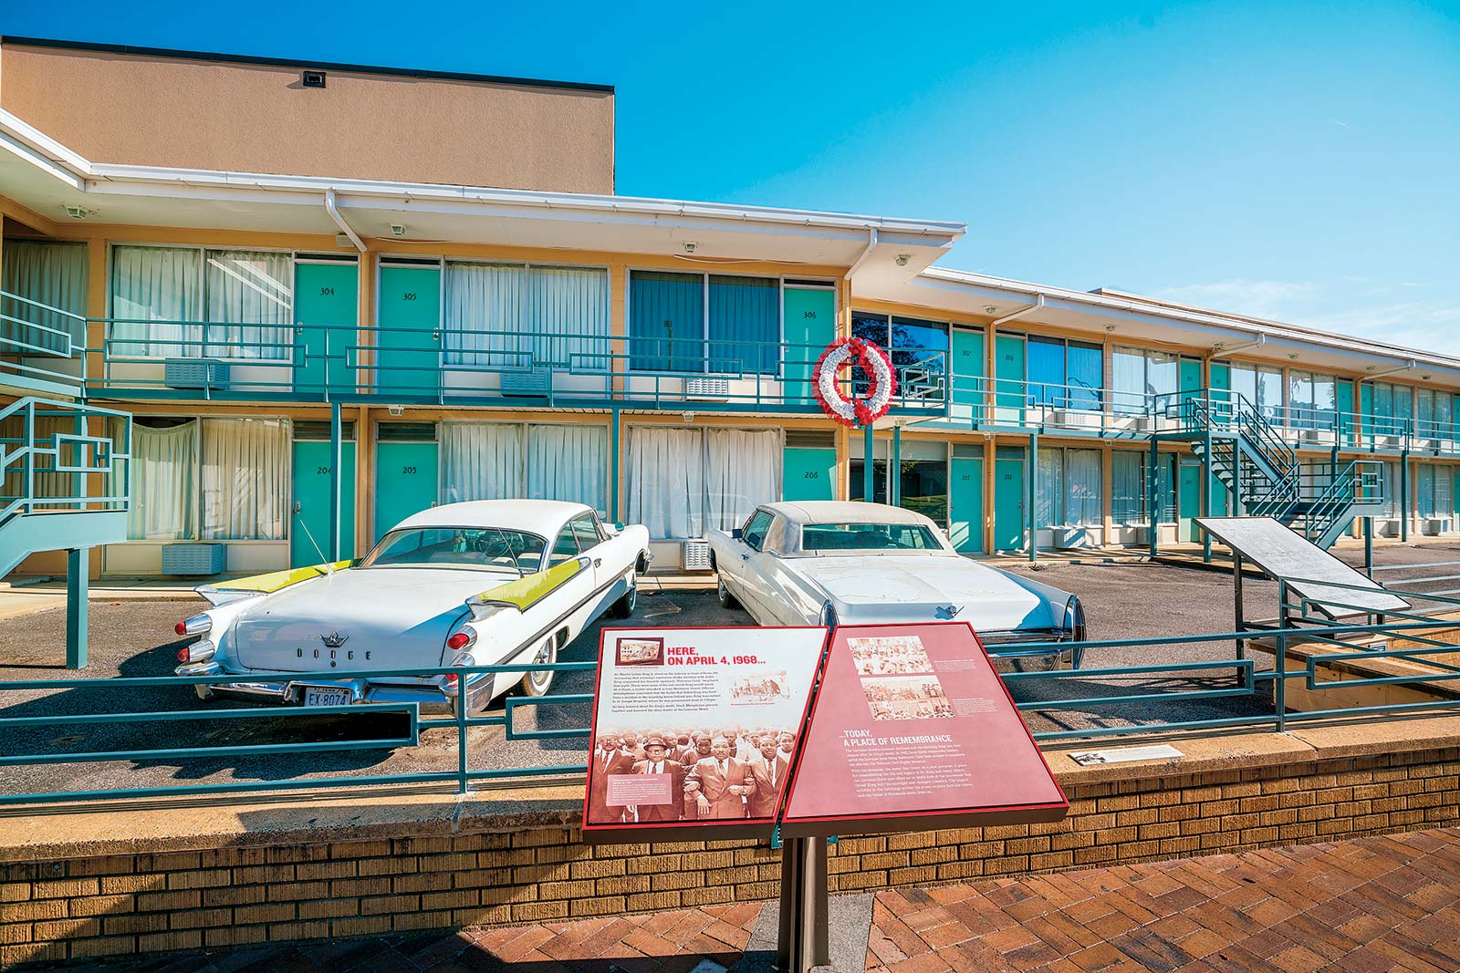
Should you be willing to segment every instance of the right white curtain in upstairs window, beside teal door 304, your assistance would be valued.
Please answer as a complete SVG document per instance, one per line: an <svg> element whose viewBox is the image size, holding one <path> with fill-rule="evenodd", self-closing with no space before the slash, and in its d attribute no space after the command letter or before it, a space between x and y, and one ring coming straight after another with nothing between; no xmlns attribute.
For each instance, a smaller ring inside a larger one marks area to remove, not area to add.
<svg viewBox="0 0 1460 973"><path fill-rule="evenodd" d="M292 359L292 279L289 254L207 251L207 353L273 362Z"/></svg>

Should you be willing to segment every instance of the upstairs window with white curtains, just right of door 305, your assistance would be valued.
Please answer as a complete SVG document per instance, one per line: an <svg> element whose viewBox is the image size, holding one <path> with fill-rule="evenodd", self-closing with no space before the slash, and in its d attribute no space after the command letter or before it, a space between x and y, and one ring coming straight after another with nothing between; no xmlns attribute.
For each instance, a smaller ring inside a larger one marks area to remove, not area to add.
<svg viewBox="0 0 1460 973"><path fill-rule="evenodd" d="M442 360L450 366L609 371L609 271L445 261Z"/></svg>

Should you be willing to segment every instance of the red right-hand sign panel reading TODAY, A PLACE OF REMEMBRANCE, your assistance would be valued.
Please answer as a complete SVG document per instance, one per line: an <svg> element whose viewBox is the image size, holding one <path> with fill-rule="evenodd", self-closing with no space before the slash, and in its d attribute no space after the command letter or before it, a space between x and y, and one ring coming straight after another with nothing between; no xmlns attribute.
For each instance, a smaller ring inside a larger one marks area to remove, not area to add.
<svg viewBox="0 0 1460 973"><path fill-rule="evenodd" d="M834 632L784 837L1028 824L1067 811L972 627Z"/></svg>

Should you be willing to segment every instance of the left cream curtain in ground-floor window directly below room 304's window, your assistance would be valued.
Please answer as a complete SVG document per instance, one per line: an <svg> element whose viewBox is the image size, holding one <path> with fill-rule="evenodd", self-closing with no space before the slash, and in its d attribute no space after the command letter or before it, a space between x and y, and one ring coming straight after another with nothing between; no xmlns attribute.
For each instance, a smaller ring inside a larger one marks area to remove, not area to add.
<svg viewBox="0 0 1460 973"><path fill-rule="evenodd" d="M197 422L169 429L131 426L131 505L127 538L175 541L196 535Z"/></svg>

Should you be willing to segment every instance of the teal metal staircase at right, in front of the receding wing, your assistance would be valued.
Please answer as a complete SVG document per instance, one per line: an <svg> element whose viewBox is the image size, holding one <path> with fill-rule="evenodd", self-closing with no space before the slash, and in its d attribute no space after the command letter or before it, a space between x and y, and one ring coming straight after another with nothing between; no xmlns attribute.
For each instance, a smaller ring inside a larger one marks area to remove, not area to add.
<svg viewBox="0 0 1460 973"><path fill-rule="evenodd" d="M1190 433L1191 451L1238 500L1247 516L1272 516L1327 548L1355 516L1384 500L1383 464L1313 462L1237 392L1187 392L1167 408ZM1186 438L1183 435L1183 438Z"/></svg>

